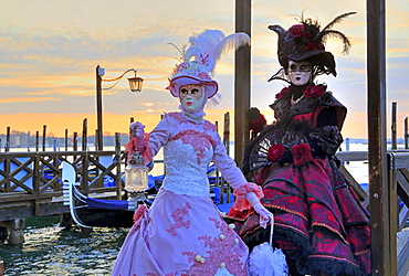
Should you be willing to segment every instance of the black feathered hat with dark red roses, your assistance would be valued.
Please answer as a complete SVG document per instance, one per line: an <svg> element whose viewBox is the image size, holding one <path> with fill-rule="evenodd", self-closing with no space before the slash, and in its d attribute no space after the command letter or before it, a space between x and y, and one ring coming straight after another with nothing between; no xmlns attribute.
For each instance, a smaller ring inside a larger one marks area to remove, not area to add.
<svg viewBox="0 0 409 276"><path fill-rule="evenodd" d="M301 17L298 24L292 25L289 30L284 30L280 25L269 25L270 30L279 34L277 54L280 64L286 68L290 60L295 62L307 60L314 66L314 77L322 74L336 76L334 55L325 51L325 42L328 36L340 39L344 43L343 53L348 53L350 47L348 38L339 31L332 30L332 28L344 18L355 13L340 14L322 30L318 21L311 18L304 19L303 17Z"/></svg>

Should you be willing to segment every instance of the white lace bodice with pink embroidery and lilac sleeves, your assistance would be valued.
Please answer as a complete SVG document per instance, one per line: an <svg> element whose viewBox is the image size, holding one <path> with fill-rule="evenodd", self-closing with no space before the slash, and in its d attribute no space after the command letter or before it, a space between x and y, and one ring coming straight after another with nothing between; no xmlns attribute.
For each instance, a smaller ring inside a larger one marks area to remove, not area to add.
<svg viewBox="0 0 409 276"><path fill-rule="evenodd" d="M164 147L165 180L161 189L177 194L209 197L207 169L211 161L233 187L247 180L226 148L216 126L204 119L191 120L170 113L149 134L149 148L155 156Z"/></svg>

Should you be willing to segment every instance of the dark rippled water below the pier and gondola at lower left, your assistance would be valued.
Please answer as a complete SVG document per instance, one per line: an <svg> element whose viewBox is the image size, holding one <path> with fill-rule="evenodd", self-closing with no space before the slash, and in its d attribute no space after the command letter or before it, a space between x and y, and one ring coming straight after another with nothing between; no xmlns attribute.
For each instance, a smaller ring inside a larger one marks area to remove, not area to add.
<svg viewBox="0 0 409 276"><path fill-rule="evenodd" d="M20 246L0 243L4 276L11 275L111 275L128 229L59 226L59 216L25 220Z"/></svg>

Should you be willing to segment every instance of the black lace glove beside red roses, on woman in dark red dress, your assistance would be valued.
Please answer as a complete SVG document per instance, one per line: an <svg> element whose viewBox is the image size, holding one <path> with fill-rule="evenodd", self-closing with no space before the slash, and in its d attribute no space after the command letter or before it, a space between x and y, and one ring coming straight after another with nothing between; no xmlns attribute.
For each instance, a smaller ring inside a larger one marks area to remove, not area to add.
<svg viewBox="0 0 409 276"><path fill-rule="evenodd" d="M315 155L334 156L343 141L343 136L336 126L324 126L310 134L310 146Z"/></svg>

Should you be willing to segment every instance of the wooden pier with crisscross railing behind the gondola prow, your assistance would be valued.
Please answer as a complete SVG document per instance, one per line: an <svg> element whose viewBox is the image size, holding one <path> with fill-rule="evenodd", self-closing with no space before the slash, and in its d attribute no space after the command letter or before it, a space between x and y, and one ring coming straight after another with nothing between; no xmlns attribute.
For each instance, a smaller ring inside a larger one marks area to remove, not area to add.
<svg viewBox="0 0 409 276"><path fill-rule="evenodd" d="M0 230L9 229L9 243L23 242L25 217L70 212L63 205L62 161L74 166L85 194L122 199L125 155L119 148L119 134L116 140L114 151L0 152ZM105 188L105 178L115 185ZM4 235L7 232L0 231L0 240Z"/></svg>

